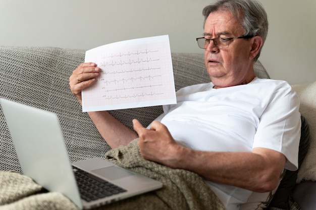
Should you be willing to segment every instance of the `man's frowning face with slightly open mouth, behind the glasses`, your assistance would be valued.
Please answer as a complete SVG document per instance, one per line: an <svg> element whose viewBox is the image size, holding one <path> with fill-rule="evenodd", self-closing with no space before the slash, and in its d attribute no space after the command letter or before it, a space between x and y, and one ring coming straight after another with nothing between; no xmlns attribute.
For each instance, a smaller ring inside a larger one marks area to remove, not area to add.
<svg viewBox="0 0 316 210"><path fill-rule="evenodd" d="M231 12L210 13L205 21L205 38L239 37L244 30ZM205 49L205 67L210 79L217 87L228 87L248 83L253 79L252 61L249 59L250 39L233 39L229 47L218 49L213 41ZM251 75L251 76L250 76ZM249 77L252 77L250 81Z"/></svg>

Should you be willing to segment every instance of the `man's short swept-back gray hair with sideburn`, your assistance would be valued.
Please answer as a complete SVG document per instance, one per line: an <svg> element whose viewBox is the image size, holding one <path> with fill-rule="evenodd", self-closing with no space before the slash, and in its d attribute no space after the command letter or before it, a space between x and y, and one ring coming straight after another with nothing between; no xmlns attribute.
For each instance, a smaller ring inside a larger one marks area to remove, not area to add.
<svg viewBox="0 0 316 210"><path fill-rule="evenodd" d="M267 13L260 3L254 0L219 0L203 9L204 25L208 15L216 11L230 11L244 29L244 34L240 35L261 36L266 41L269 24ZM259 58L260 51L254 61Z"/></svg>

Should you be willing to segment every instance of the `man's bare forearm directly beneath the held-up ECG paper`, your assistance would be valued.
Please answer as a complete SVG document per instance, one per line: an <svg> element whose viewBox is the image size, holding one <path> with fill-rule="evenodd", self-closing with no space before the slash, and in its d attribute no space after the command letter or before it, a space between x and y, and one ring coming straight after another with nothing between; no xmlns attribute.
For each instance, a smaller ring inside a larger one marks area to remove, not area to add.
<svg viewBox="0 0 316 210"><path fill-rule="evenodd" d="M137 138L137 134L133 130L126 127L107 111L88 112L88 115L101 136L112 148L127 145Z"/></svg>

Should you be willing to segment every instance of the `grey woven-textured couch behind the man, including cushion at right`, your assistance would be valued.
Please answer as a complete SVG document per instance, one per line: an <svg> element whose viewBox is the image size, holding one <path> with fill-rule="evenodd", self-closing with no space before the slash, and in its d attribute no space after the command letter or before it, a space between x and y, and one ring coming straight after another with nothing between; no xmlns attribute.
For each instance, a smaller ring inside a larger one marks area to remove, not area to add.
<svg viewBox="0 0 316 210"><path fill-rule="evenodd" d="M56 113L71 162L104 158L105 153L111 149L87 113L82 112L68 85L69 76L84 61L84 55L85 50L79 49L0 47L0 97ZM191 84L209 82L202 54L172 53L172 62L176 90ZM269 78L259 61L254 67L257 77ZM295 175L295 187L289 193L289 203L292 209L294 204L295 209L316 209L316 201L313 199L316 197L316 82L292 87L300 98L300 113L308 123L310 138L307 154ZM162 112L161 106L110 111L130 128L132 119L136 118L147 126ZM1 108L0 132L0 171L22 173ZM287 193L281 191L279 194Z"/></svg>

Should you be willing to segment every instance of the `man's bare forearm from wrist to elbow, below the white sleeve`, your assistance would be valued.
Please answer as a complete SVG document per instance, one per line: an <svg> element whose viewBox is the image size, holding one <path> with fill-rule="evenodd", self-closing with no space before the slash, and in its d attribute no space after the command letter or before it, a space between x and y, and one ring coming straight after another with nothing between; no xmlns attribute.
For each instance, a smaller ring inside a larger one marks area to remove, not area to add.
<svg viewBox="0 0 316 210"><path fill-rule="evenodd" d="M172 168L195 172L205 179L256 192L277 187L285 156L277 151L256 148L253 152L208 152L181 148Z"/></svg>

